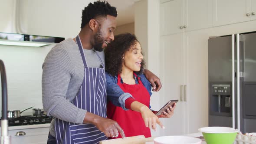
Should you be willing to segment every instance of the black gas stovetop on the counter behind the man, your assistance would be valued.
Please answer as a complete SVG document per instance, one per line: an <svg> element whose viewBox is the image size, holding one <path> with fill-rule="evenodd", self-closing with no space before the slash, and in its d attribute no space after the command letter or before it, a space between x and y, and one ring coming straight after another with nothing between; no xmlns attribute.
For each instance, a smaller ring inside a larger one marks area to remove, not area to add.
<svg viewBox="0 0 256 144"><path fill-rule="evenodd" d="M8 126L32 125L32 124L47 124L51 123L53 117L46 115L33 116L25 115L19 118L8 118Z"/></svg>

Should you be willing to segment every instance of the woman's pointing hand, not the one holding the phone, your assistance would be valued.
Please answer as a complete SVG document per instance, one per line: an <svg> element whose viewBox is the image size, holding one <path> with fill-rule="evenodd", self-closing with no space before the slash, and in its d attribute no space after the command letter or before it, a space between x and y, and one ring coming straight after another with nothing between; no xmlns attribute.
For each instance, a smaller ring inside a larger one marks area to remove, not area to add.
<svg viewBox="0 0 256 144"><path fill-rule="evenodd" d="M140 112L146 127L156 131L156 124L159 124L161 128L164 129L164 126L161 121L159 121L158 116L156 116L147 106L141 107Z"/></svg>

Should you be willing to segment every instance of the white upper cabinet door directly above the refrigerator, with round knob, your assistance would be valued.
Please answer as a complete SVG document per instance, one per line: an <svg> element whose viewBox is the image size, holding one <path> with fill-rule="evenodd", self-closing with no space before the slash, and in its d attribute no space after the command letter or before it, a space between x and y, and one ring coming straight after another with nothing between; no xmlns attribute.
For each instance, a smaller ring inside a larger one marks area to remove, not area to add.
<svg viewBox="0 0 256 144"><path fill-rule="evenodd" d="M251 20L250 0L213 0L213 26Z"/></svg>

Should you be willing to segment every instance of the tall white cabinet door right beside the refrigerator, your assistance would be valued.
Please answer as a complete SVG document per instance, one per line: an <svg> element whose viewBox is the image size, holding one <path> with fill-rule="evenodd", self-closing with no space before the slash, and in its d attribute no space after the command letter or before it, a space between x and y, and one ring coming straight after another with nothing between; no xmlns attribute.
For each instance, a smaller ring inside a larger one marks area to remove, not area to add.
<svg viewBox="0 0 256 144"><path fill-rule="evenodd" d="M188 133L208 126L208 38L209 29L185 34L185 82L187 83Z"/></svg>

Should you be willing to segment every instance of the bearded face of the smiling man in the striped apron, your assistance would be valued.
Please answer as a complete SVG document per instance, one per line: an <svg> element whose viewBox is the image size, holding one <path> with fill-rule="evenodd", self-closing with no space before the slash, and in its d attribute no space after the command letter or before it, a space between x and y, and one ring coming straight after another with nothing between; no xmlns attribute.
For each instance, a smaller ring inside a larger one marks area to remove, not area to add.
<svg viewBox="0 0 256 144"><path fill-rule="evenodd" d="M95 19L99 25L98 31L94 34L93 48L96 51L102 51L108 43L114 40L114 31L116 26L115 16L107 15L107 18Z"/></svg>

